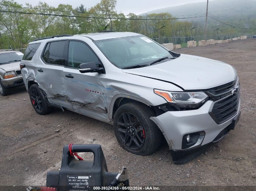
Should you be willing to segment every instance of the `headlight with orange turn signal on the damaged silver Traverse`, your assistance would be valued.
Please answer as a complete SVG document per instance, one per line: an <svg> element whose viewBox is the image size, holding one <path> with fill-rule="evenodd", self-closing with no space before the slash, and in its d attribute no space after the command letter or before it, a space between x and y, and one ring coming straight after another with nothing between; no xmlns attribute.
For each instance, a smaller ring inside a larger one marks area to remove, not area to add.
<svg viewBox="0 0 256 191"><path fill-rule="evenodd" d="M177 107L198 107L208 99L204 92L170 92L157 89L154 92Z"/></svg>

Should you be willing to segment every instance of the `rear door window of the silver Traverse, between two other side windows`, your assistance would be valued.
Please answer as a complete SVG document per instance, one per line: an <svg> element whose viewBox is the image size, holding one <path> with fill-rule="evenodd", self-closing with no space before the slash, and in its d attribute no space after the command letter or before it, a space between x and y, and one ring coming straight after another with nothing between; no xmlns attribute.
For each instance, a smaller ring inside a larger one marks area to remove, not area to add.
<svg viewBox="0 0 256 191"><path fill-rule="evenodd" d="M56 41L48 43L43 54L44 61L48 64L65 66L65 42L66 41Z"/></svg>

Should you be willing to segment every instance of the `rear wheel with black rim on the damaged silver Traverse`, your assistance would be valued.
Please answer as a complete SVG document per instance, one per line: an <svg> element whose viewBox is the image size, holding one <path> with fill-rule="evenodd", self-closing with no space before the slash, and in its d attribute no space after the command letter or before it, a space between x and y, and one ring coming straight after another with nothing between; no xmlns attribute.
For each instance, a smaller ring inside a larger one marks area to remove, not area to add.
<svg viewBox="0 0 256 191"><path fill-rule="evenodd" d="M30 86L29 98L34 110L38 114L45 115L52 111L52 107L48 106L47 98L42 89L39 88L38 84L33 84Z"/></svg>

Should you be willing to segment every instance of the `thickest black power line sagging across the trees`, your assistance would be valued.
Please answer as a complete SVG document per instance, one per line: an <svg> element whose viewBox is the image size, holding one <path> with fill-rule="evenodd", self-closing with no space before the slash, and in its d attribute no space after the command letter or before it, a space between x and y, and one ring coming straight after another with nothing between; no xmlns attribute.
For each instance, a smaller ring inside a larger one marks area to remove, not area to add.
<svg viewBox="0 0 256 191"><path fill-rule="evenodd" d="M61 14L46 14L46 13L29 13L29 12L21 12L21 11L4 11L0 10L0 12L5 13L14 13L14 14L35 14L35 15L49 15L49 16L60 16L60 17L75 17L75 18L97 18L97 19L120 19L120 20L174 20L174 19L188 19L188 18L198 18L205 17L203 16L195 16L195 17L184 17L184 18L161 18L161 19L148 19L148 18L105 18L105 17L85 17L85 16L73 16L73 15L61 15Z"/></svg>

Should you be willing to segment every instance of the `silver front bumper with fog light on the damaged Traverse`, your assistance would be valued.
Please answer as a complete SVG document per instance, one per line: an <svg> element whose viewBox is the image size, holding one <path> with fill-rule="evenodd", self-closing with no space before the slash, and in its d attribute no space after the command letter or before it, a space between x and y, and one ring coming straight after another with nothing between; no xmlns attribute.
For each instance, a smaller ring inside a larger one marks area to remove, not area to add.
<svg viewBox="0 0 256 191"><path fill-rule="evenodd" d="M233 118L240 114L238 110L234 116L221 124L217 124L209 115L209 109L213 104L212 100L208 100L197 110L168 111L150 119L163 132L170 149L175 151L190 150L220 140L220 138L218 140L215 138L218 138L218 135L232 123ZM201 139L199 138L195 145L182 149L183 136L194 132L204 132L205 135Z"/></svg>

